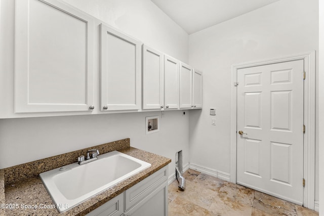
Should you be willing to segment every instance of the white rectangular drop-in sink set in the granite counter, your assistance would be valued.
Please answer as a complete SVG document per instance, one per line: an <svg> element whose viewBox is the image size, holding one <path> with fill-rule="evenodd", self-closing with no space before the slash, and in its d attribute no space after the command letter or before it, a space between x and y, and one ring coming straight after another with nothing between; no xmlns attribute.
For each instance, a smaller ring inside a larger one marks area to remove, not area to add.
<svg viewBox="0 0 324 216"><path fill-rule="evenodd" d="M46 190L64 212L100 192L126 180L151 164L118 151L98 155L98 159L77 162L39 174Z"/></svg>

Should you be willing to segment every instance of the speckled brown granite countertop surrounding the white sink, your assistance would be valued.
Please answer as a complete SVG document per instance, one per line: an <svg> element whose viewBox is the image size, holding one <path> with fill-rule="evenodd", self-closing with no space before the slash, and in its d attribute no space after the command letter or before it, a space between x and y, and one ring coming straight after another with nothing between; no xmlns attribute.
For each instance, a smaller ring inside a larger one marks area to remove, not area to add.
<svg viewBox="0 0 324 216"><path fill-rule="evenodd" d="M5 202L3 203L17 204L16 206L18 207L15 209L6 209L5 213L4 211L0 211L0 215L85 215L171 162L169 158L130 146L118 151L151 163L151 166L64 213L59 213L53 207L54 203L38 176L26 178L16 183L11 182L10 184L6 184L5 193L2 192L0 185L0 200L2 195L5 195ZM0 184L4 181L7 182L6 174L4 175L4 171L0 170Z"/></svg>

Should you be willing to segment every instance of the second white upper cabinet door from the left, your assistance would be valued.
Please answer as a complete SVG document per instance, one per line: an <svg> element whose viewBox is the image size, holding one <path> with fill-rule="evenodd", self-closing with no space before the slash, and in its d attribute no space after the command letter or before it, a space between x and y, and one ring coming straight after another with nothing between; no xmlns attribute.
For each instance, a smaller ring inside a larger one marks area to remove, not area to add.
<svg viewBox="0 0 324 216"><path fill-rule="evenodd" d="M101 110L140 109L141 43L101 24Z"/></svg>

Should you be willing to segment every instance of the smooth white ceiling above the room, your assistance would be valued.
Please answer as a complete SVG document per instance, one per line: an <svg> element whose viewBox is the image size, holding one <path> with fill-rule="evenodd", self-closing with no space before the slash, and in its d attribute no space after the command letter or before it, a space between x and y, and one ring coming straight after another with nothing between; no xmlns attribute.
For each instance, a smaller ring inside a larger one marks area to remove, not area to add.
<svg viewBox="0 0 324 216"><path fill-rule="evenodd" d="M188 34L279 0L151 0Z"/></svg>

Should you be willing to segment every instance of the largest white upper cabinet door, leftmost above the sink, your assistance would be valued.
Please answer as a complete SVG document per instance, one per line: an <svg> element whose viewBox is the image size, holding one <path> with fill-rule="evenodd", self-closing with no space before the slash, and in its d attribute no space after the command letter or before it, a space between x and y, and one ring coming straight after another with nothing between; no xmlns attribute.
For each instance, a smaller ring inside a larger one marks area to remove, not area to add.
<svg viewBox="0 0 324 216"><path fill-rule="evenodd" d="M16 1L16 113L93 109L93 33L92 17L61 2Z"/></svg>

